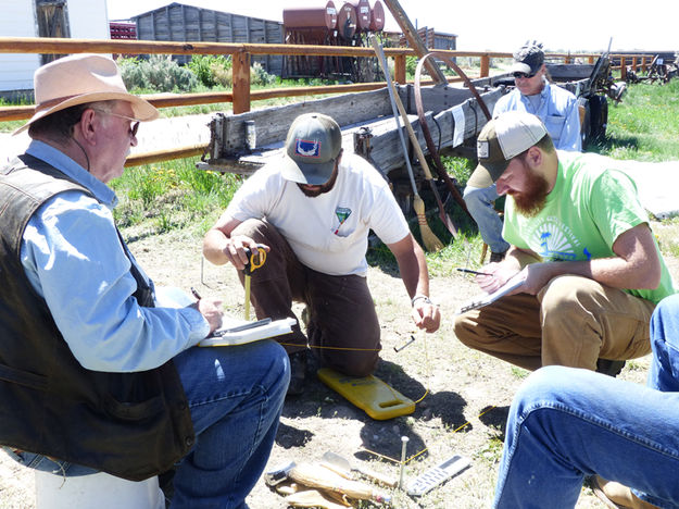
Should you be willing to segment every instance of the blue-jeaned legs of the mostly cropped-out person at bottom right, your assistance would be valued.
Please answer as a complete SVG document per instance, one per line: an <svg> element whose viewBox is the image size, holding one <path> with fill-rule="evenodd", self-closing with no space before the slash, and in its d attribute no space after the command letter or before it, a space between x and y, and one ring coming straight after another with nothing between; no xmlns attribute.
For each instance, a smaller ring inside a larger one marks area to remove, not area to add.
<svg viewBox="0 0 679 509"><path fill-rule="evenodd" d="M679 295L656 307L651 342L646 387L563 367L529 376L510 410L494 507L571 508L592 474L679 507Z"/></svg>

